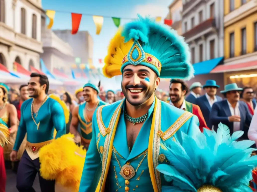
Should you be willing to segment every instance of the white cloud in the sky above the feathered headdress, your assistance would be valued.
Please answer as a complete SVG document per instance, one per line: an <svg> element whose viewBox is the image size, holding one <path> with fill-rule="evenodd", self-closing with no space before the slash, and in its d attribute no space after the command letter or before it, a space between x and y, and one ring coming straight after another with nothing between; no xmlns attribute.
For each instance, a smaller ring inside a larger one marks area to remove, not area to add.
<svg viewBox="0 0 257 192"><path fill-rule="evenodd" d="M146 5L136 5L132 13L132 17L136 17L137 14L141 16L151 16L151 17L162 17L165 18L169 13L169 9L165 4L146 4Z"/></svg>

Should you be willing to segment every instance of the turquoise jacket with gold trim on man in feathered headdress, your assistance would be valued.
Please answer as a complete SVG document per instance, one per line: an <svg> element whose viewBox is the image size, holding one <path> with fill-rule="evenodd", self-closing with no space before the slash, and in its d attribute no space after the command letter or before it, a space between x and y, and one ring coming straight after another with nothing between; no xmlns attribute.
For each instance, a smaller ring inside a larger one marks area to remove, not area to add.
<svg viewBox="0 0 257 192"><path fill-rule="evenodd" d="M155 98L149 109L149 117L130 152L126 138L124 101L100 106L93 116L92 140L79 192L104 192L105 188L110 191L160 192L161 185L167 183L155 167L167 163L163 155L165 145L182 142L181 132L188 135L200 133L195 115Z"/></svg>

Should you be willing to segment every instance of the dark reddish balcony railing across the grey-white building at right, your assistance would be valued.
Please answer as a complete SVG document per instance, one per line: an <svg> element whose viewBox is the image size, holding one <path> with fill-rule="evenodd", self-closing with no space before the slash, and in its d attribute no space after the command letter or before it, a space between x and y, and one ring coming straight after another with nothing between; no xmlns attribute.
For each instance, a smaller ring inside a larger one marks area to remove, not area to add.
<svg viewBox="0 0 257 192"><path fill-rule="evenodd" d="M182 36L185 37L185 39L189 39L208 28L216 28L215 18L209 18L205 20L204 22L184 33Z"/></svg>

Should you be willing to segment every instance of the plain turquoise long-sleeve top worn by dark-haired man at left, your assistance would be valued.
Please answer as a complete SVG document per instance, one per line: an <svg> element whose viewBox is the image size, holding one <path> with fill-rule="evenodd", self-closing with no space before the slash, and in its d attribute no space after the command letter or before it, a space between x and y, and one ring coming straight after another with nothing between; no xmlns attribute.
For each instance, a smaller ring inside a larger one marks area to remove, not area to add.
<svg viewBox="0 0 257 192"><path fill-rule="evenodd" d="M31 116L31 104L33 99L24 101L21 105L21 120L13 150L18 151L27 133L27 141L30 143L42 143L53 139L54 128L57 131L56 138L66 133L65 116L62 106L58 101L48 98L38 111L34 119Z"/></svg>

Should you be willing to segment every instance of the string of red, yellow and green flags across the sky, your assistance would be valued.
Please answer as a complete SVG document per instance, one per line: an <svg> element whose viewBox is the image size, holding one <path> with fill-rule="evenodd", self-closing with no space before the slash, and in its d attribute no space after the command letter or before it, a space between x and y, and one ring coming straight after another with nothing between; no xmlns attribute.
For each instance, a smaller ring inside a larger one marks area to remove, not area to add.
<svg viewBox="0 0 257 192"><path fill-rule="evenodd" d="M55 16L56 13L71 14L71 34L73 34L73 35L75 35L79 30L79 25L80 25L82 15L93 17L93 21L94 21L95 26L96 26L96 35L99 35L101 30L102 30L102 26L103 26L103 23L104 23L104 18L111 18L116 27L120 26L121 19L133 20L133 18L119 18L119 17L90 15L90 14L85 14L85 13L69 13L69 12L62 12L62 11L55 11L55 10L46 10L46 15L50 20L49 24L47 26L48 29L52 28L53 23L54 23L54 16ZM155 18L155 21L158 22L158 23L160 23L161 20L162 20L162 17L156 17ZM171 26L172 25L172 20L171 19L164 19L164 24L168 25L168 26Z"/></svg>

